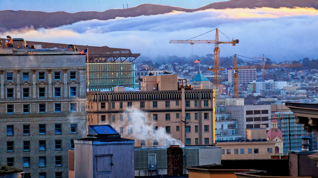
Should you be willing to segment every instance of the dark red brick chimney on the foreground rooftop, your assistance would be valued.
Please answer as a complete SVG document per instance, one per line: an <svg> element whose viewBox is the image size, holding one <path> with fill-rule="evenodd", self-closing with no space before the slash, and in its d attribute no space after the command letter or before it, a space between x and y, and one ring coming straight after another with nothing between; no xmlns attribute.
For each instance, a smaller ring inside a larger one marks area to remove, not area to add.
<svg viewBox="0 0 318 178"><path fill-rule="evenodd" d="M179 145L170 145L167 148L168 175L183 175L183 151Z"/></svg>

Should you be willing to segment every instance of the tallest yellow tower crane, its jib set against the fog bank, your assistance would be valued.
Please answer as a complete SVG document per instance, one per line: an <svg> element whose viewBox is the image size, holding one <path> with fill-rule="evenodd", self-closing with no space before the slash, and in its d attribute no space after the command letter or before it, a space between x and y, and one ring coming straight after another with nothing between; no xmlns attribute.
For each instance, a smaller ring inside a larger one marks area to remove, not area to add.
<svg viewBox="0 0 318 178"><path fill-rule="evenodd" d="M212 31L212 30L211 30ZM235 46L235 44L239 43L239 40L233 40L232 41L219 41L219 30L216 28L215 33L215 40L170 40L169 43L190 43L191 45L195 43L212 43L214 44L214 88L218 89L219 93L220 91L220 49L219 44L232 44L232 46ZM221 32L222 33L222 32ZM211 69L208 69L211 70Z"/></svg>

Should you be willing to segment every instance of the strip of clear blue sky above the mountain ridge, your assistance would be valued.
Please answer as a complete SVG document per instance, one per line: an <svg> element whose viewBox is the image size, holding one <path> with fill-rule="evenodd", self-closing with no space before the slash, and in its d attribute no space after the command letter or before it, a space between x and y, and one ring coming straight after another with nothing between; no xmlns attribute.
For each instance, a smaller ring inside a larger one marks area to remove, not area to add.
<svg viewBox="0 0 318 178"><path fill-rule="evenodd" d="M31 10L56 12L65 11L70 13L80 11L99 11L109 9L125 9L136 7L140 4L160 4L187 9L196 9L210 3L221 2L222 0L0 0L0 10Z"/></svg>

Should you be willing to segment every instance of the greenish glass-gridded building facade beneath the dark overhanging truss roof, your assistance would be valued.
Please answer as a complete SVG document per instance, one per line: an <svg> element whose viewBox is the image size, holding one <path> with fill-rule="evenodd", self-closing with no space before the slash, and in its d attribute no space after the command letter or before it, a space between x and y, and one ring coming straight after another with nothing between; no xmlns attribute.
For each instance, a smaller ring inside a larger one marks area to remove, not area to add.
<svg viewBox="0 0 318 178"><path fill-rule="evenodd" d="M117 85L135 88L135 64L132 62L88 63L88 76L89 91L114 91Z"/></svg>

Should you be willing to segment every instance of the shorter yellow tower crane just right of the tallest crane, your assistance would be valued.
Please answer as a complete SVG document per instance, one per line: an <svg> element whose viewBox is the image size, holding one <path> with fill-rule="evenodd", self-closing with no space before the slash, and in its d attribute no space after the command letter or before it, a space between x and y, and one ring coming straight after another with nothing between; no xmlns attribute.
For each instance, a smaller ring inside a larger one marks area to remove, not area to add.
<svg viewBox="0 0 318 178"><path fill-rule="evenodd" d="M267 68L282 68L282 67L302 67L302 65L300 63L297 64L268 64L265 65L264 63L264 54L262 58L259 59L263 59L263 65L248 65L248 66L238 66L237 65L237 61L236 61L236 56L238 54L234 54L233 57L233 68L212 68L212 69L208 69L208 70L212 70L212 71L220 71L220 70L234 70L234 75L233 75L233 84L234 84L234 98L239 98L239 69L267 69ZM245 57L245 56L242 56ZM257 57L253 57L253 58L257 58ZM251 58L252 59L252 58Z"/></svg>

